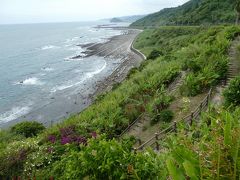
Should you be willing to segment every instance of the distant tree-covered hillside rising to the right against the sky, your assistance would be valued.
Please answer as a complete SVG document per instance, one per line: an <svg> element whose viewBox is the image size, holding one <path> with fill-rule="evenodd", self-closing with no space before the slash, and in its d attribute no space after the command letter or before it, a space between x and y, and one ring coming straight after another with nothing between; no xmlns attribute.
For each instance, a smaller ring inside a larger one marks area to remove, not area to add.
<svg viewBox="0 0 240 180"><path fill-rule="evenodd" d="M236 0L190 0L176 8L150 14L131 26L200 25L234 23Z"/></svg>

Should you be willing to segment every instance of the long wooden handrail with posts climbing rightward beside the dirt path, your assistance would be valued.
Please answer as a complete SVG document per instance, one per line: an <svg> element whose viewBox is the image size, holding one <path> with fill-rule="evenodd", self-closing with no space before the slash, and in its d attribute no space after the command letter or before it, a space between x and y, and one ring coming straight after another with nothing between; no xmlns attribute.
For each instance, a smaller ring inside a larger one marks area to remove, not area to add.
<svg viewBox="0 0 240 180"><path fill-rule="evenodd" d="M142 145L140 145L137 148L134 148L134 151L142 150L147 144L149 144L153 140L154 140L154 142L151 145L156 143L156 146L157 146L156 148L157 148L157 150L159 150L159 144L158 144L158 141L160 140L159 136L162 134L164 135L168 130L174 130L176 132L177 131L177 122L180 122L180 121L189 122L190 121L190 125L192 125L193 120L197 119L197 117L199 117L199 115L203 112L203 110L208 106L211 95L212 95L212 88L209 90L207 96L203 99L203 101L198 105L198 107L190 115L184 117L183 119L181 119L179 121L175 121L174 123L172 123L172 125L170 125L166 129L162 130L161 132L155 133L155 135L152 136L145 143L143 143Z"/></svg>

